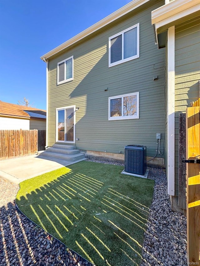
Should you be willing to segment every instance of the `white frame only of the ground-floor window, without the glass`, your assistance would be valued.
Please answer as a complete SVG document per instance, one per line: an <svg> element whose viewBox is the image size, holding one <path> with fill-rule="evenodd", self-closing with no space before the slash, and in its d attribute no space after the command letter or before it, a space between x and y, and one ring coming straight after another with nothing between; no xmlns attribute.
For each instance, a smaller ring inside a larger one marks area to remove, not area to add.
<svg viewBox="0 0 200 266"><path fill-rule="evenodd" d="M137 95L137 114L136 115L123 116L123 97L133 96L133 95ZM110 100L116 99L116 98L122 98L122 116L111 117L110 116ZM126 120L126 119L139 119L139 92L122 94L122 95L117 95L117 96L113 96L113 97L108 98L108 120L111 121L111 120Z"/></svg>

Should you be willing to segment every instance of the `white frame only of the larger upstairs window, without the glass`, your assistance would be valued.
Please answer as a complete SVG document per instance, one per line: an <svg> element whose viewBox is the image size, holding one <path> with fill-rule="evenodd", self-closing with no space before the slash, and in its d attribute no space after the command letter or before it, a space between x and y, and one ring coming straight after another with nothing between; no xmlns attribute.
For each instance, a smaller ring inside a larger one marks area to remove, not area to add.
<svg viewBox="0 0 200 266"><path fill-rule="evenodd" d="M124 62L127 62L127 61L130 61L130 60L133 60L133 59L136 59L136 58L140 57L140 27L139 26L140 26L140 23L135 24L134 26L129 27L128 29L120 31L117 34L109 37L109 46L108 46L109 47L108 48L108 51L109 51L108 60L109 61L108 61L108 67L112 67L114 65L119 65L119 64L122 64ZM137 55L128 57L126 59L119 60L119 61L114 62L114 63L110 63L110 61L111 61L111 39L113 39L113 38L115 38L115 37L117 37L117 36L122 34L122 58L123 58L123 56L124 56L124 49L123 49L123 46L124 46L124 32L129 31L129 30L131 30L133 28L136 28L136 27L137 27Z"/></svg>

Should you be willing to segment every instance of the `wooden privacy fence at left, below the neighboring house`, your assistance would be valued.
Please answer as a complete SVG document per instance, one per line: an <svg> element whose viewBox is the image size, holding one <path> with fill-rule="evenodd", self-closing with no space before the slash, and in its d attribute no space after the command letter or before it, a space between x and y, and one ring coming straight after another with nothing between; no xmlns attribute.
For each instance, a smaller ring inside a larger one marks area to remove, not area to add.
<svg viewBox="0 0 200 266"><path fill-rule="evenodd" d="M0 160L45 150L45 141L46 130L0 130Z"/></svg>

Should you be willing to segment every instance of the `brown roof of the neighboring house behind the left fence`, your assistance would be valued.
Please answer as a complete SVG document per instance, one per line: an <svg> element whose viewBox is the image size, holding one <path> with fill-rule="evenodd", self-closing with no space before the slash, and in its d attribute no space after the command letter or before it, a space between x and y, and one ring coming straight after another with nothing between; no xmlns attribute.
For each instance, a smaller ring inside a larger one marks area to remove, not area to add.
<svg viewBox="0 0 200 266"><path fill-rule="evenodd" d="M25 118L43 118L46 119L46 110L23 106L18 104L10 104L0 101L0 116L17 116Z"/></svg>

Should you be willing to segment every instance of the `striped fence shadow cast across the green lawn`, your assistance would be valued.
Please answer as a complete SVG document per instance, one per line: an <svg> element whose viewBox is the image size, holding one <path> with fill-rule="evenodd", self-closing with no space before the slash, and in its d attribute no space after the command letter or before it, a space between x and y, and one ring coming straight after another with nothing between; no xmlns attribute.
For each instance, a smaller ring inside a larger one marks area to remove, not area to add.
<svg viewBox="0 0 200 266"><path fill-rule="evenodd" d="M123 180L116 188L69 172L16 203L31 220L91 263L139 265L149 208L121 194Z"/></svg>

